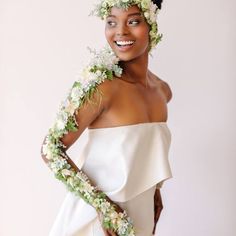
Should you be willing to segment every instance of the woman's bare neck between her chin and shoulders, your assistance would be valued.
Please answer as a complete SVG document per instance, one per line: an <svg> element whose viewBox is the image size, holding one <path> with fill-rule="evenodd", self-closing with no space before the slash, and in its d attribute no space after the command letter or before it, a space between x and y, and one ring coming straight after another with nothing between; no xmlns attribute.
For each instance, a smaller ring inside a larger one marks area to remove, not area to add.
<svg viewBox="0 0 236 236"><path fill-rule="evenodd" d="M123 68L124 79L131 83L147 85L148 53L144 53L142 56L131 61L121 61L120 65Z"/></svg>

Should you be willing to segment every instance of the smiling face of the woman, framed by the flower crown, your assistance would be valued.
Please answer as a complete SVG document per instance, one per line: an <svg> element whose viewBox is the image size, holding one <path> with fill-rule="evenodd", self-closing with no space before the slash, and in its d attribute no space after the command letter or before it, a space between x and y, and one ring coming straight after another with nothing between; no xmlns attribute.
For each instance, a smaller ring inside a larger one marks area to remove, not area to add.
<svg viewBox="0 0 236 236"><path fill-rule="evenodd" d="M121 61L130 61L149 49L149 25L137 6L113 7L106 19L106 39Z"/></svg>

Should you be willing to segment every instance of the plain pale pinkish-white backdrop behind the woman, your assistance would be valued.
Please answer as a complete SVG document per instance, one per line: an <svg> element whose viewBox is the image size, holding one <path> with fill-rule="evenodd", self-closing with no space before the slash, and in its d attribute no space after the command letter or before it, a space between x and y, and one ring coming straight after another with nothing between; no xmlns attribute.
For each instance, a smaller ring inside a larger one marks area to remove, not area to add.
<svg viewBox="0 0 236 236"><path fill-rule="evenodd" d="M86 47L105 43L93 4L0 0L0 236L48 235L66 195L40 148ZM150 68L173 91L173 178L158 236L236 235L235 9L235 0L164 0L158 16L164 36Z"/></svg>

